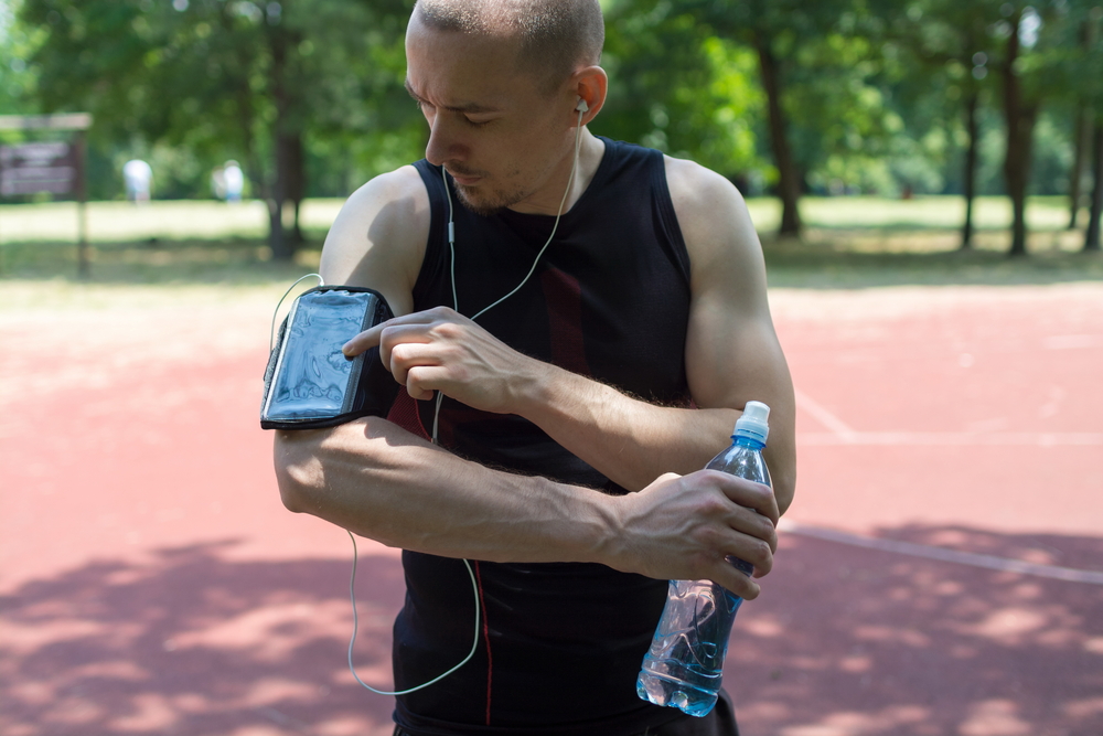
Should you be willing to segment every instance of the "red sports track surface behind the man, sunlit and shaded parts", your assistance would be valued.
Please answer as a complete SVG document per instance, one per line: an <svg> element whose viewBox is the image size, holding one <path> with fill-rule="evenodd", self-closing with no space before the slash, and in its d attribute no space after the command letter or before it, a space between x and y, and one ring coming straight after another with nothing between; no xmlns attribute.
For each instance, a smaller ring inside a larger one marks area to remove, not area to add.
<svg viewBox="0 0 1103 736"><path fill-rule="evenodd" d="M801 479L731 641L745 734L1103 734L1103 285L772 302ZM390 733L347 537L276 493L268 317L0 314L0 733ZM401 572L361 557L387 686Z"/></svg>

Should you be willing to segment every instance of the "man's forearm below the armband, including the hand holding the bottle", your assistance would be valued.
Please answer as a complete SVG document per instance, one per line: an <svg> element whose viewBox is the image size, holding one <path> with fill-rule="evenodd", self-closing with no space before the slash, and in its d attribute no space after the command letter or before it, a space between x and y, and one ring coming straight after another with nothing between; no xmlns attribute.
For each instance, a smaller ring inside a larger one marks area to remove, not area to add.
<svg viewBox="0 0 1103 736"><path fill-rule="evenodd" d="M655 578L709 578L745 598L758 585L725 562L772 565L777 503L725 473L666 476L607 495L452 456L376 417L277 433L291 511L390 546L491 562L590 562Z"/></svg>

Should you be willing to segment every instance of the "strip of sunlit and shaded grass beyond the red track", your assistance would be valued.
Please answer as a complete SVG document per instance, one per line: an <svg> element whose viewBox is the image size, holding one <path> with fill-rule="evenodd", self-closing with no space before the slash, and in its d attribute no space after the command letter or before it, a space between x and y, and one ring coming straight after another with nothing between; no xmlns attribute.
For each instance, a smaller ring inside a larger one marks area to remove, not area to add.
<svg viewBox="0 0 1103 736"><path fill-rule="evenodd" d="M321 243L340 200L310 200L302 223L308 243L295 263L271 260L258 202L125 202L88 205L90 284L76 281L73 203L0 205L0 308L24 300L25 287L234 287L271 294L317 268ZM773 287L866 288L895 285L1059 284L1103 280L1103 257L1080 253L1083 233L1068 231L1063 198L1036 198L1028 207L1030 255L1008 258L1010 207L982 198L975 247L960 252L961 198L805 198L800 242L773 235L775 200L748 202L762 233ZM15 292L24 296L12 296ZM32 289L33 291L33 289ZM96 291L96 290L94 290ZM97 291L98 292L98 291Z"/></svg>

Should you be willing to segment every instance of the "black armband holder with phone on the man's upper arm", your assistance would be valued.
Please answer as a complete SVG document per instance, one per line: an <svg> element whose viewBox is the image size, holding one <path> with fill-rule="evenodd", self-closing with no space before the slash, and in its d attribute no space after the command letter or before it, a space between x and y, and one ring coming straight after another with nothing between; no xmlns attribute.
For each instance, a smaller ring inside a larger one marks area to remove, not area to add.
<svg viewBox="0 0 1103 736"><path fill-rule="evenodd" d="M394 317L373 289L319 286L302 292L280 324L265 371L264 429L318 429L386 416L398 383L372 348L353 359L341 346Z"/></svg>

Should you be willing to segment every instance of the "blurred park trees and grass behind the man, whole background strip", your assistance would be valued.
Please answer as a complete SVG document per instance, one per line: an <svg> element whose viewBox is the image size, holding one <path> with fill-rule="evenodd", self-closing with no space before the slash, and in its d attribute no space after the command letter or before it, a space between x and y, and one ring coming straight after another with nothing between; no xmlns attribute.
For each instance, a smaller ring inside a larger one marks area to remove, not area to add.
<svg viewBox="0 0 1103 736"><path fill-rule="evenodd" d="M591 129L730 178L773 257L811 268L843 252L965 249L990 266L997 253L1049 253L1059 270L1099 276L1068 254L1100 242L1100 0L602 4L612 82ZM133 243L131 260L217 242L308 263L342 198L424 153L426 126L403 88L410 7L0 0L0 114L94 115L100 267ZM0 131L0 143L63 135ZM133 158L151 164L160 201L211 200L213 171L240 161L246 202L140 214L121 202ZM9 270L45 268L50 250L30 244L72 242L66 205L50 200L0 204Z"/></svg>

